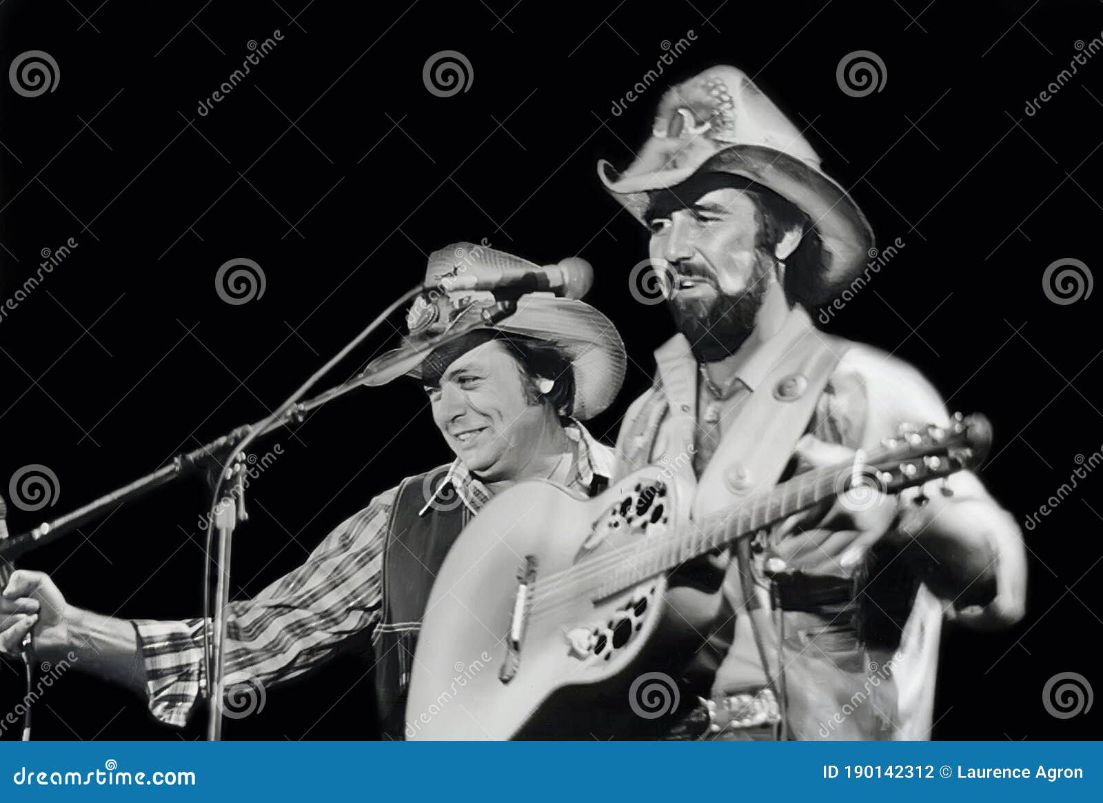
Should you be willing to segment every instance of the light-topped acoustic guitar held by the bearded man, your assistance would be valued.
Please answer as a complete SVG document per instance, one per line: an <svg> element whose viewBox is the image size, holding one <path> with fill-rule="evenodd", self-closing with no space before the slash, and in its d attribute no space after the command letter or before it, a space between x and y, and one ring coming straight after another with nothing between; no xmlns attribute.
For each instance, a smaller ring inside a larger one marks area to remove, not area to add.
<svg viewBox="0 0 1103 803"><path fill-rule="evenodd" d="M693 489L668 465L593 499L548 481L514 485L467 526L437 575L407 738L645 737L657 724L640 698L642 678L677 675L719 598L718 582L676 587L679 567L838 495L897 493L973 468L989 445L979 415L904 427L853 463L803 472L697 520Z"/></svg>

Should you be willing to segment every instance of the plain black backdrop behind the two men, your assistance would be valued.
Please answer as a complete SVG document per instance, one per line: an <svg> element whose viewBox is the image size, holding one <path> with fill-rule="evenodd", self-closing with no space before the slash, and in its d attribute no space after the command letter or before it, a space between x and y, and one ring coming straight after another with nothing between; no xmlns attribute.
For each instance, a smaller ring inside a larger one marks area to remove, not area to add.
<svg viewBox="0 0 1103 803"><path fill-rule="evenodd" d="M631 159L662 87L619 117L612 106L658 62L663 40L689 30L697 40L664 86L711 64L741 66L806 129L879 245L906 243L827 329L895 351L951 408L986 413L997 443L982 477L1022 521L1075 456L1103 443L1100 295L1058 306L1041 286L1057 259L1097 267L1103 56L1025 115L1074 43L1101 34L1103 6L968 6L9 0L0 66L43 50L61 79L33 98L0 87L3 297L35 272L42 249L78 244L0 320L3 492L29 463L50 467L60 485L46 511L10 505L12 529L260 418L453 240L592 261L591 301L632 360L619 403L592 427L612 439L672 325L628 292L645 235L602 192L595 164ZM277 29L283 41L201 117L200 100L240 66L246 43ZM470 60L468 92L426 89L422 65L443 50ZM887 68L866 97L836 83L836 65L857 50ZM234 257L266 275L265 295L244 306L215 292L215 271ZM385 344L365 344L334 378ZM276 439L283 456L254 483L236 540L235 596L297 566L375 493L449 457L425 404L414 386L364 390ZM1054 718L1042 687L1061 672L1100 685L1101 483L1089 475L1027 533L1021 624L947 632L935 738L1097 732L1097 706ZM194 615L205 505L201 481L163 489L24 565L52 571L83 607ZM226 735L372 738L367 668L349 657L270 689L264 710ZM12 704L21 694L10 668L0 686ZM203 719L178 734L78 673L35 716L43 739L191 739Z"/></svg>

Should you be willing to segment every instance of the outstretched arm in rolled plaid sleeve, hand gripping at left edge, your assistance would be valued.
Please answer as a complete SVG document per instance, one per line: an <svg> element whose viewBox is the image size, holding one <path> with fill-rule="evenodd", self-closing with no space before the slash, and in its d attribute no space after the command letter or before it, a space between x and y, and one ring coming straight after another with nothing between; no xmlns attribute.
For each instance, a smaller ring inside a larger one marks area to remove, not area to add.
<svg viewBox="0 0 1103 803"><path fill-rule="evenodd" d="M301 567L227 615L225 674L232 684L299 676L370 630L379 614L383 547L394 492L334 529ZM0 651L15 655L33 629L43 657L144 693L152 714L182 726L205 690L202 619L128 621L69 606L49 576L13 574L0 598ZM244 679L248 678L248 679ZM233 686L223 689L229 694Z"/></svg>

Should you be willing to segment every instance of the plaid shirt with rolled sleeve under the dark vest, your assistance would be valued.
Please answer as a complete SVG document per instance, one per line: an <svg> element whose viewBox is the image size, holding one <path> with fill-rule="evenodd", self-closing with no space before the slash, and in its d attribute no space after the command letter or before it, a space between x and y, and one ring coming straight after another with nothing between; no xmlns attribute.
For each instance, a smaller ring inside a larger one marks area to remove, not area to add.
<svg viewBox="0 0 1103 803"><path fill-rule="evenodd" d="M589 491L596 475L611 478L612 450L578 421L566 428L577 445L574 485ZM437 493L448 484L478 514L491 493L459 461L449 468ZM379 620L383 603L383 549L398 488L381 493L342 522L302 566L265 588L255 599L231 602L226 622L225 677L236 683L274 683L298 677L340 650L349 636ZM133 621L146 666L149 709L162 722L186 724L201 692L203 630L210 620Z"/></svg>

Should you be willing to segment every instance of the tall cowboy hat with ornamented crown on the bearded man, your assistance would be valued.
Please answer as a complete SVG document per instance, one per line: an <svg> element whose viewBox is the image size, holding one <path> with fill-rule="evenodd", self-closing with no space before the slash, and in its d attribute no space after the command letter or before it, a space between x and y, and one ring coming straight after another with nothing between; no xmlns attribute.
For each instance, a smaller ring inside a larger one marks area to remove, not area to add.
<svg viewBox="0 0 1103 803"><path fill-rule="evenodd" d="M810 217L822 243L820 275L808 277L816 296L810 301L827 300L860 272L874 245L865 215L823 172L800 129L738 67L719 65L668 89L651 137L624 172L598 162L602 183L641 223L650 191L697 172L750 179Z"/></svg>

